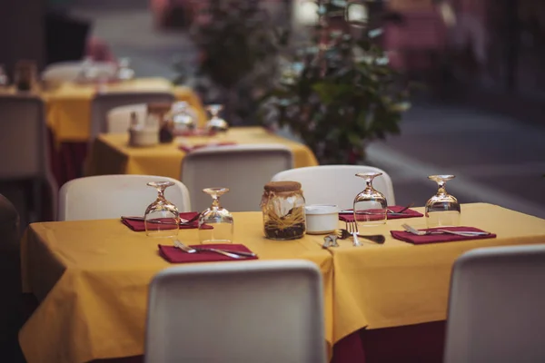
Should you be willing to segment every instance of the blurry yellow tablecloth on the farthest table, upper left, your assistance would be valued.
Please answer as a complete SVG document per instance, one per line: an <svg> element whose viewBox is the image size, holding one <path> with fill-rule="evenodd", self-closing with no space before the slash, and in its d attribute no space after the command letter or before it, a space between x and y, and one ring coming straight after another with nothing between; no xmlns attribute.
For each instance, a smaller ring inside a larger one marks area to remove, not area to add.
<svg viewBox="0 0 545 363"><path fill-rule="evenodd" d="M56 142L87 142L91 123L91 102L99 86L95 84L62 83L42 92L46 104L47 125ZM205 123L206 114L199 97L187 87L174 87L163 78L138 78L124 83L100 86L101 92L172 92L178 101L186 101Z"/></svg>

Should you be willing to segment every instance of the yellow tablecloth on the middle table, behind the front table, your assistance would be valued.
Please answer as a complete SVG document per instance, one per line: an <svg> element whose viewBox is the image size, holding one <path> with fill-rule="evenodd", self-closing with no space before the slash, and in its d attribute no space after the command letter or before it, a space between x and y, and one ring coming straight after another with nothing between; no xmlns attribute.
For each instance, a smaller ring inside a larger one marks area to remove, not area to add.
<svg viewBox="0 0 545 363"><path fill-rule="evenodd" d="M150 148L128 146L128 134L101 134L94 141L87 174L145 174L179 179L185 156L179 149L180 142L197 145L219 141L282 143L292 149L296 168L318 165L312 151L302 143L267 132L263 127L233 127L223 136L178 138L173 143Z"/></svg>

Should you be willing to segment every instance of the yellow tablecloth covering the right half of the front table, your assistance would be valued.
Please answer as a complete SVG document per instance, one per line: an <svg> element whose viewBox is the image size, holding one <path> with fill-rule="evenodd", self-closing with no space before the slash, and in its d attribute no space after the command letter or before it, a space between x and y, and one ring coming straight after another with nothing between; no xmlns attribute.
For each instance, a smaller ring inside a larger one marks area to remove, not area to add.
<svg viewBox="0 0 545 363"><path fill-rule="evenodd" d="M423 212L423 208L415 208ZM463 204L461 225L497 234L488 240L412 245L394 240L402 223L426 228L425 219L391 220L362 234L384 234L355 249L352 241L330 249L333 256L333 341L367 327L380 329L444 320L451 268L463 252L478 247L545 243L545 220L486 203ZM362 240L364 241L364 240Z"/></svg>

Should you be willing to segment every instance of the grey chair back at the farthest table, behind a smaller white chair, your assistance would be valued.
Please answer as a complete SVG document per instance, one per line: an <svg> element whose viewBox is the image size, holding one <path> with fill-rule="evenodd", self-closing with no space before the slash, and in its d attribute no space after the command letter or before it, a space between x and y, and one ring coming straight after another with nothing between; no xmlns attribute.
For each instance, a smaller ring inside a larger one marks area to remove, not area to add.
<svg viewBox="0 0 545 363"><path fill-rule="evenodd" d="M173 103L173 100L173 93L166 92L98 93L91 105L91 141L99 133L106 132L107 114L115 107L135 103Z"/></svg>

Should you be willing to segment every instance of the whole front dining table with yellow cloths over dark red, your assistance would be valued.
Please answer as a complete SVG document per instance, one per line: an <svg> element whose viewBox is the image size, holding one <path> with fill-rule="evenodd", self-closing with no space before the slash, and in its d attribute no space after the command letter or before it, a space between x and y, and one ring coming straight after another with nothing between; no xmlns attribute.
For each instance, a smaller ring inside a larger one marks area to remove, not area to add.
<svg viewBox="0 0 545 363"><path fill-rule="evenodd" d="M311 260L320 268L325 337L334 363L441 361L454 261L476 248L545 243L545 220L489 203L461 204L461 225L490 231L493 238L429 244L391 233L404 231L403 223L425 229L425 217L361 229L384 235L384 243L361 239L362 246L354 247L349 238L326 249L322 235L265 239L261 212L233 217L234 243L260 259ZM181 230L179 238L199 243L197 230ZM21 241L22 279L39 305L19 334L27 361L142 359L149 282L173 266L157 250L154 239L121 220L31 224ZM426 327L438 326L440 338L431 337Z"/></svg>

